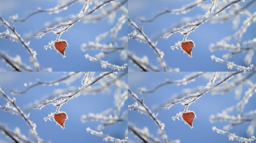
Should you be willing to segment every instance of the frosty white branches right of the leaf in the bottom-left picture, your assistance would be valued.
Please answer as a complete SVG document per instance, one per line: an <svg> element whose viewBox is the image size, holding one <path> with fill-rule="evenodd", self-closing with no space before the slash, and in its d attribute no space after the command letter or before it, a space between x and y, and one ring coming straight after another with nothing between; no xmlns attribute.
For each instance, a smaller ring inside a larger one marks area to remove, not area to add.
<svg viewBox="0 0 256 143"><path fill-rule="evenodd" d="M116 76L110 76L111 78L116 78ZM119 79L119 77L117 77ZM124 107L125 101L128 98L128 85L126 85L125 82L121 80L116 80L115 82L116 85L116 91L115 91L115 107L106 109L102 111L101 113L94 114L94 113L89 113L88 115L82 115L81 121L82 123L88 122L88 121L99 121L101 122L100 125L96 127L97 130L102 130L106 126L118 124L120 122L126 122L128 120L128 112L127 108L125 107L124 110L122 110L122 113L120 114L121 108ZM107 84L107 83L106 83ZM88 132L91 134L94 134L96 136L103 137L104 141L111 141L115 143L123 143L123 142L128 142L128 136L125 135L125 139L116 139L115 137L108 136L106 134L103 134L102 131L95 131L92 130L91 128L86 128Z"/></svg>

